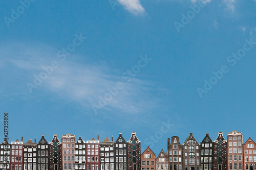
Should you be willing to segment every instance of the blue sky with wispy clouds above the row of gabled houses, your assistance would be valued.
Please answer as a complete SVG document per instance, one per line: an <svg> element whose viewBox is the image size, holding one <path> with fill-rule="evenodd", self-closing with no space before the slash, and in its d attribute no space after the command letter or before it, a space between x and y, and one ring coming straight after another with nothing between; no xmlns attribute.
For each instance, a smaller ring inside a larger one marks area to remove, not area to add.
<svg viewBox="0 0 256 170"><path fill-rule="evenodd" d="M1 1L0 108L9 113L10 140L116 140L119 132L129 140L135 131L156 154L168 137L184 142L190 132L199 142L206 132L216 139L233 130L256 140L255 7Z"/></svg>

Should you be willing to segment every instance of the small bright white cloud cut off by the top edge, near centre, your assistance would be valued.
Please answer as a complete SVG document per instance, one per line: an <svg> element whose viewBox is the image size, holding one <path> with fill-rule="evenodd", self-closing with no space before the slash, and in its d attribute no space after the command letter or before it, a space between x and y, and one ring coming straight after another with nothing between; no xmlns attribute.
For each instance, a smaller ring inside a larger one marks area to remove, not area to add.
<svg viewBox="0 0 256 170"><path fill-rule="evenodd" d="M127 11L141 15L145 13L145 9L142 7L139 0L117 0Z"/></svg>

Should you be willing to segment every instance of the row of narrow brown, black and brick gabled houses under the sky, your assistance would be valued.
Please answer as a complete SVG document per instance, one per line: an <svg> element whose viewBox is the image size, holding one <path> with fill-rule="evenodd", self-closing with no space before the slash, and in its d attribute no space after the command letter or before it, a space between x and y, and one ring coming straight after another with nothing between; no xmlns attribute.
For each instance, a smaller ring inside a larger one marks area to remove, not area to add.
<svg viewBox="0 0 256 170"><path fill-rule="evenodd" d="M184 143L178 136L167 139L167 151L156 155L150 147L141 153L136 133L126 141L106 137L102 142L92 138L75 140L75 135L53 135L47 141L42 135L36 142L29 139L0 144L0 170L256 170L256 144L249 137L244 143L242 132L232 131L227 139L222 132L215 140L206 133L199 143L190 133Z"/></svg>

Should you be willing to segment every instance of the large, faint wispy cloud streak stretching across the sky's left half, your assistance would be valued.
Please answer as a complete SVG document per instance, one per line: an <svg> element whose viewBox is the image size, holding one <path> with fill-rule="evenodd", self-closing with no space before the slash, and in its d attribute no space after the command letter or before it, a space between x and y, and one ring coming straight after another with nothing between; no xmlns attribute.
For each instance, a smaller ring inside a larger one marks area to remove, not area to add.
<svg viewBox="0 0 256 170"><path fill-rule="evenodd" d="M3 46L0 46L0 51L2 51L1 49ZM11 81L16 80L19 84L11 83L12 87L4 86L4 88L13 93L22 91L24 98L40 94L38 91L41 91L42 94L54 93L56 98L65 99L67 102L77 102L93 112L92 104L98 105L100 96L104 98L104 95L109 93L108 88L113 88L117 82L122 82L123 89L119 90L113 99L99 110L99 113L104 111L144 113L161 106L160 95L165 92L165 89L157 87L156 82L140 79L139 73L130 82L124 80L122 73L130 68L119 70L116 73L105 64L81 64L78 60L71 61L68 58L66 61L60 61L56 57L57 51L47 45L41 49L36 45L24 46L18 45L18 43L12 47L11 45L8 48L5 47L5 52L9 55L6 56L3 51L0 52L5 60L2 65L6 65L1 71ZM74 58L82 60L81 56ZM42 66L49 66L53 60L58 61L59 66L54 68L52 74L48 75L48 78L43 80L36 89L34 88L31 94L26 83L33 84L34 75L38 76L40 72L44 71Z"/></svg>

